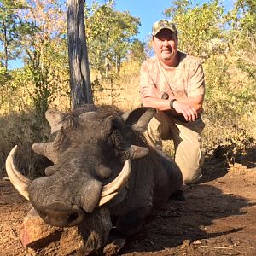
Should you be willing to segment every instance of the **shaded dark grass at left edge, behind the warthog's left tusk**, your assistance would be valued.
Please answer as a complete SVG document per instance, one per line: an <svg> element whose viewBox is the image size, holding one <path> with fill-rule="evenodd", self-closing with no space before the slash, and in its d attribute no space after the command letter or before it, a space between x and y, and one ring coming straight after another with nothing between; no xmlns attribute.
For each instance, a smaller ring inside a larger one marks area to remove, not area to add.
<svg viewBox="0 0 256 256"><path fill-rule="evenodd" d="M16 165L29 177L42 174L44 159L33 154L32 144L46 141L49 127L45 120L32 111L9 113L0 117L0 170L4 173L5 159L9 151L18 145ZM1 173L1 172L0 172Z"/></svg>

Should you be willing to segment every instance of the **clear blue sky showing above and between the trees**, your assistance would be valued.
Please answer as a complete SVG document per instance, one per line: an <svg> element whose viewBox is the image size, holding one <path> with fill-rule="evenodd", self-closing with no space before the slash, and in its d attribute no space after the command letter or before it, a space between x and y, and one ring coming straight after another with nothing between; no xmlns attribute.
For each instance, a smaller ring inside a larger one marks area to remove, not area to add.
<svg viewBox="0 0 256 256"><path fill-rule="evenodd" d="M62 3L66 0L60 0ZM90 6L94 0L86 0ZM97 3L103 4L105 0L96 0ZM196 0L194 4L208 3L209 1ZM226 9L231 9L234 0L224 0ZM155 21L165 19L164 10L171 7L172 0L115 0L115 9L119 11L129 11L132 16L138 17L141 20L139 34L137 37L142 41L147 41L151 33L151 28ZM11 61L11 68L22 67L22 62Z"/></svg>

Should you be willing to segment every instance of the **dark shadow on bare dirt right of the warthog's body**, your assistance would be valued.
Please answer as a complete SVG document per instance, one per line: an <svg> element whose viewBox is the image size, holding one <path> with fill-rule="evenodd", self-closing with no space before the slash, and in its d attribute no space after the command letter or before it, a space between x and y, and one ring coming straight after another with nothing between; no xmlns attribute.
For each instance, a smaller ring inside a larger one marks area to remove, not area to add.
<svg viewBox="0 0 256 256"><path fill-rule="evenodd" d="M122 253L155 252L166 247L177 247L190 242L218 237L240 231L230 226L221 232L208 233L207 226L218 218L242 215L243 207L250 203L241 197L224 195L221 190L207 184L198 184L185 191L186 201L169 201L156 212L143 233L126 243Z"/></svg>

